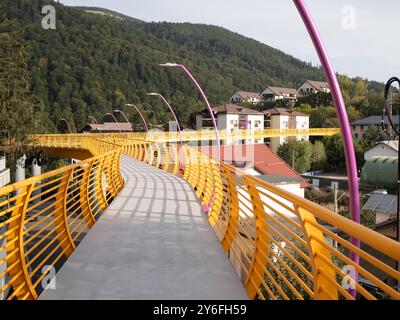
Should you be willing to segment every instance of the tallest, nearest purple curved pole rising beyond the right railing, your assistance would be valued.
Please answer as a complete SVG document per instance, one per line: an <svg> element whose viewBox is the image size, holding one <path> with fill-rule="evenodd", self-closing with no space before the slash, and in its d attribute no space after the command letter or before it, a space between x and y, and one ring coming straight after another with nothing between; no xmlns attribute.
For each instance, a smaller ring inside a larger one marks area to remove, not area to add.
<svg viewBox="0 0 400 320"><path fill-rule="evenodd" d="M318 29L313 21L313 18L305 4L304 0L293 0L294 4L299 11L304 24L307 27L308 33L314 43L315 49L317 50L319 59L324 68L326 77L328 78L329 85L332 90L333 104L335 105L337 115L340 121L340 127L342 130L344 152L346 156L346 167L349 184L349 198L350 198L350 212L353 221L360 223L360 196L358 191L358 175L357 175L357 162L354 152L353 136L351 134L350 123L346 112L346 106L340 90L339 81L335 75L332 64L330 62L328 53L325 49L324 43L318 32ZM352 243L360 247L360 241L352 238ZM360 257L352 253L352 260L356 263L360 263ZM356 275L356 282L358 281L358 275ZM351 291L355 296L355 290Z"/></svg>

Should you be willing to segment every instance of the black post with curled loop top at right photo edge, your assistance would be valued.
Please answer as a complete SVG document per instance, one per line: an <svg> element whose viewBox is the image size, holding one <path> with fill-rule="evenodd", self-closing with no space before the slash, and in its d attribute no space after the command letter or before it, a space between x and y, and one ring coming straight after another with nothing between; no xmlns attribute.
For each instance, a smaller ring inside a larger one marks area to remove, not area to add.
<svg viewBox="0 0 400 320"><path fill-rule="evenodd" d="M400 241L400 131L399 131L399 127L398 127L400 122L398 122L397 126L396 126L395 122L393 121L393 117L392 117L392 108L391 108L392 106L391 106L391 103L389 102L390 88L392 87L393 83L395 83L395 82L397 82L400 86L400 79L397 77L390 78L389 81L386 83L385 107L384 107L383 113L382 113L381 125L382 125L383 130L387 132L386 127L385 127L385 119L384 119L384 116L386 114L392 130L395 133L395 135L397 136L398 144L399 144L397 146L398 159L397 159L397 212L396 212L397 231L396 231L396 240ZM391 136L391 134L389 132L387 132L387 133L389 134L389 136ZM396 270L400 271L399 261L396 261ZM400 282L397 283L397 286L400 288Z"/></svg>

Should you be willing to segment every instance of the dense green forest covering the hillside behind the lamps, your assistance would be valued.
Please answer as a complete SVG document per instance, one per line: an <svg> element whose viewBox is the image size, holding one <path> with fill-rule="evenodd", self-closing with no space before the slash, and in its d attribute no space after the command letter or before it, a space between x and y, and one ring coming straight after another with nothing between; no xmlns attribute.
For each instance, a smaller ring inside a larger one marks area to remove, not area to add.
<svg viewBox="0 0 400 320"><path fill-rule="evenodd" d="M56 30L41 26L41 9L49 3L56 7ZM80 131L90 115L104 120L116 108L139 122L126 103L140 105L152 124L164 124L169 116L158 100L146 95L149 91L165 95L183 126L191 126L191 115L203 105L183 74L158 66L168 61L189 67L213 104L225 102L238 89L324 80L321 69L221 27L147 23L109 10L42 0L0 0L0 5L27 46L30 88L38 108L50 118L41 131L66 132L61 118ZM360 81L368 86L365 95L380 95L381 84ZM374 112L365 108L371 103L362 103L363 114Z"/></svg>

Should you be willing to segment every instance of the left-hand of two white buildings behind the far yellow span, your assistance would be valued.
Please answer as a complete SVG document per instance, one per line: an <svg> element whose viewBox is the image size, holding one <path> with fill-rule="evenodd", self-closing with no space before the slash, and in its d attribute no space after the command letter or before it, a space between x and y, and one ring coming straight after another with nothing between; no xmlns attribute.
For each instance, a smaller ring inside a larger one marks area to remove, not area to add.
<svg viewBox="0 0 400 320"><path fill-rule="evenodd" d="M219 130L264 130L264 114L257 110L241 107L236 104L224 104L212 108ZM208 109L196 116L197 130L213 129L212 119ZM264 143L263 139L249 139L246 143ZM231 145L233 140L224 140L223 144Z"/></svg>

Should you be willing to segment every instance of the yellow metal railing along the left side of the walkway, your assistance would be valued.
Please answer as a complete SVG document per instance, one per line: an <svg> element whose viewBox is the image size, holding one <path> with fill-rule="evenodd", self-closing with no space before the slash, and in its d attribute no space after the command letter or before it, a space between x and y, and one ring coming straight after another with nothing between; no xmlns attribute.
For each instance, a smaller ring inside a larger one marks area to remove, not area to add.
<svg viewBox="0 0 400 320"><path fill-rule="evenodd" d="M0 189L0 296L38 297L46 266L59 266L72 254L122 189L121 151Z"/></svg>

